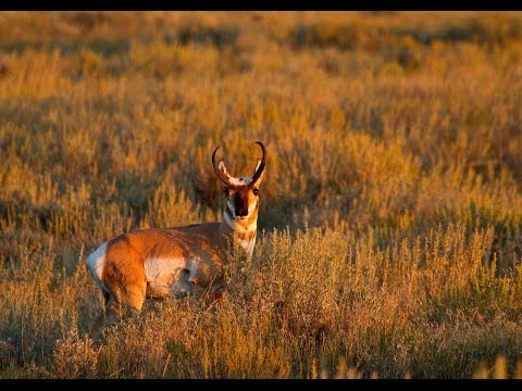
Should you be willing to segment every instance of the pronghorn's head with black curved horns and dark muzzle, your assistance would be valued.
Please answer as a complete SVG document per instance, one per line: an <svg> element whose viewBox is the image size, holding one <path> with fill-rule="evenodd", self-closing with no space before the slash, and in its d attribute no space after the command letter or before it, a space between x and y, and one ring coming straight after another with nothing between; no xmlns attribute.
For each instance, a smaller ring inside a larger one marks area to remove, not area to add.
<svg viewBox="0 0 522 391"><path fill-rule="evenodd" d="M228 174L223 160L215 164L215 152L221 146L217 146L212 153L212 165L215 175L226 185L226 207L232 218L235 220L249 219L259 209L259 186L263 180L264 165L266 161L266 150L260 141L256 141L261 147L263 157L258 161L256 171L249 177L233 177Z"/></svg>

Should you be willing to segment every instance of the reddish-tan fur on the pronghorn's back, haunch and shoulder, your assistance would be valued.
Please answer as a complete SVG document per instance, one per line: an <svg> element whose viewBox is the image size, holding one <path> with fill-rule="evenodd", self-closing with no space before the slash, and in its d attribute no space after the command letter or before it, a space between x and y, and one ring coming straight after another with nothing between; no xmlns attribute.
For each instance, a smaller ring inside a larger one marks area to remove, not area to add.
<svg viewBox="0 0 522 391"><path fill-rule="evenodd" d="M207 223L145 229L109 241L102 274L109 299L102 314L104 319L98 319L96 328L112 324L129 310L141 311L146 298L166 295L148 286L145 261L150 257L199 258L197 273L190 279L194 299L220 297L224 287L223 260L231 234L219 223Z"/></svg>

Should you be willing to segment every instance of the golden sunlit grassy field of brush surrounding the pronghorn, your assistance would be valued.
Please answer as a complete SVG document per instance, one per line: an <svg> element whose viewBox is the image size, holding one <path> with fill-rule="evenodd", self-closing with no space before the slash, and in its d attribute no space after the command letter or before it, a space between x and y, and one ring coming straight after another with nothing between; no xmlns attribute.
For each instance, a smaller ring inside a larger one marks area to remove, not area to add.
<svg viewBox="0 0 522 391"><path fill-rule="evenodd" d="M2 12L0 378L521 377L521 123L520 13ZM231 294L94 343L86 255L256 140Z"/></svg>

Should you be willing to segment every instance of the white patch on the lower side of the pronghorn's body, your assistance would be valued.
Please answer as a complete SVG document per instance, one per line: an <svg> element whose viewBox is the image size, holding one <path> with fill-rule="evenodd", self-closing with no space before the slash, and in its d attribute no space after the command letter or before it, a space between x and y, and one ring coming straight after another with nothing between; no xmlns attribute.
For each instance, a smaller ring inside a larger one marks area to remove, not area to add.
<svg viewBox="0 0 522 391"><path fill-rule="evenodd" d="M147 298L160 299L167 295L183 298L190 295L188 269L184 258L151 257L145 261Z"/></svg>

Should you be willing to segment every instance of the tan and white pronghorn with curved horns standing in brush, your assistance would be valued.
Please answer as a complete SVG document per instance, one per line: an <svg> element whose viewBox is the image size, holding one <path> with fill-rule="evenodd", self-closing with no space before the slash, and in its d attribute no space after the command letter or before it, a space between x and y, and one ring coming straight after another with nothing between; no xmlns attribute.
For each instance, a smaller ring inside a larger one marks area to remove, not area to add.
<svg viewBox="0 0 522 391"><path fill-rule="evenodd" d="M224 291L223 266L231 243L236 242L251 257L256 242L259 186L263 180L266 151L250 177L233 177L223 160L212 166L225 187L221 223L178 228L151 228L123 234L101 244L87 257L87 265L100 286L105 310L92 326L97 333L128 310L141 311L146 298L219 299Z"/></svg>

